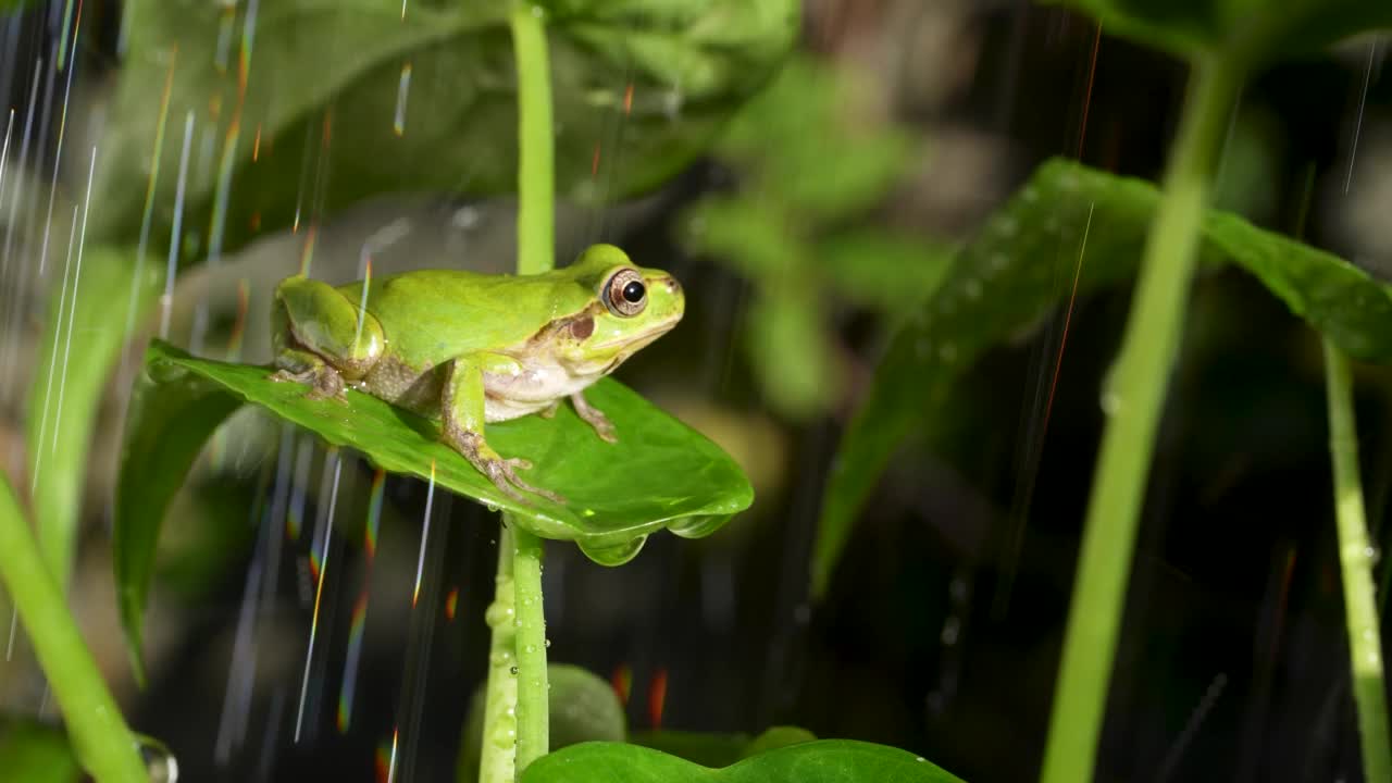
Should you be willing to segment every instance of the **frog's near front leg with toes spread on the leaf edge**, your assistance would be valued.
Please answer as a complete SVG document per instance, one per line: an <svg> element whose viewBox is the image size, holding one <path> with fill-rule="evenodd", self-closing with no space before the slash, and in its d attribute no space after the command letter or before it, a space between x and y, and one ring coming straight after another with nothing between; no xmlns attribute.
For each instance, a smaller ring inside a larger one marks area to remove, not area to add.
<svg viewBox="0 0 1392 783"><path fill-rule="evenodd" d="M451 361L440 405L444 440L508 497L530 506L530 502L518 492L523 489L564 504L565 499L560 495L532 486L516 475L518 470L528 470L532 463L505 458L483 439L483 375L504 375L516 369L516 359L501 354L470 354Z"/></svg>

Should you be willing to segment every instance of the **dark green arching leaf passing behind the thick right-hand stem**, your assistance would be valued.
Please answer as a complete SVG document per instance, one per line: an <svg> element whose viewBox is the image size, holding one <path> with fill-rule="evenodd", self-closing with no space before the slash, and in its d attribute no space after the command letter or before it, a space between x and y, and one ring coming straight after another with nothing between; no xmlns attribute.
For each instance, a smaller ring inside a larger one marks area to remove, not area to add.
<svg viewBox="0 0 1392 783"><path fill-rule="evenodd" d="M1066 302L1075 286L1083 295L1129 277L1158 198L1147 181L1051 160L960 249L928 305L895 336L846 429L813 552L816 595L880 472L935 415L958 373ZM1200 259L1242 266L1349 355L1392 361L1392 288L1361 269L1217 210L1204 219Z"/></svg>

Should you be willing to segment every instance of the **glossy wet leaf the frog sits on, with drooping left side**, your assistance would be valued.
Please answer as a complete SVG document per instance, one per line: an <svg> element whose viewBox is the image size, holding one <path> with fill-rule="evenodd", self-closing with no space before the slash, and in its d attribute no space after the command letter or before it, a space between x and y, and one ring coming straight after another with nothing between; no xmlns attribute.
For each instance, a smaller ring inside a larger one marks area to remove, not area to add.
<svg viewBox="0 0 1392 783"><path fill-rule="evenodd" d="M523 417L487 428L503 456L536 465L528 481L569 500L558 506L503 495L440 440L437 422L356 390L347 403L309 400L305 386L269 380L264 366L199 359L157 340L146 351L146 373L132 403L114 534L121 616L134 644L168 497L198 447L244 401L383 470L433 476L444 489L511 511L533 534L574 541L608 566L636 556L651 532L710 535L753 502L749 479L728 454L612 379L586 397L608 414L618 444L600 440L569 405L550 421Z"/></svg>

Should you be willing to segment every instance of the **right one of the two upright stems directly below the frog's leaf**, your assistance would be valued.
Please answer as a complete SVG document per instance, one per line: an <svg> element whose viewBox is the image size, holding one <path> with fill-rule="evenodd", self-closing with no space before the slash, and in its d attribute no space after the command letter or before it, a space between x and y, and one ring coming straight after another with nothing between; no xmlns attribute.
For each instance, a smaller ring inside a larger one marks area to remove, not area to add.
<svg viewBox="0 0 1392 783"><path fill-rule="evenodd" d="M518 775L550 750L546 673L546 616L541 603L541 539L522 528L512 531L512 584L516 596L516 720Z"/></svg>

